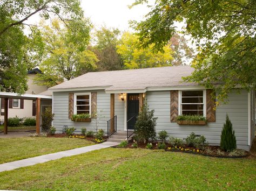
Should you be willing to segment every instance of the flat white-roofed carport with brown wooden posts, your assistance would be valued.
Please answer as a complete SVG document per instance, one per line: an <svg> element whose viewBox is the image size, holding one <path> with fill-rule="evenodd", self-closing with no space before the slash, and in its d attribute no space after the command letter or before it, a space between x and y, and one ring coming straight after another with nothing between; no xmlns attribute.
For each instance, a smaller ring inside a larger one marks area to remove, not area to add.
<svg viewBox="0 0 256 191"><path fill-rule="evenodd" d="M9 98L34 100L36 101L36 133L41 132L41 104L42 102L51 102L52 96L38 94L23 94L0 92L0 98L4 98L4 134L8 133L8 101Z"/></svg>

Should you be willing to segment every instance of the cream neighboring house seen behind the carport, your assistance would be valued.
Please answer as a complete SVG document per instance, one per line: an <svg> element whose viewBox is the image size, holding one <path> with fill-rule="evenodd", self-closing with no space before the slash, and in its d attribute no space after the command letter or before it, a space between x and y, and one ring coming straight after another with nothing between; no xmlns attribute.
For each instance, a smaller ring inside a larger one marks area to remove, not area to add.
<svg viewBox="0 0 256 191"><path fill-rule="evenodd" d="M41 70L38 68L29 70L28 72L28 90L25 94L40 94L43 91L47 90L46 86L38 86L33 83L33 79L36 74L41 74ZM0 120L4 120L4 98L1 99L1 115ZM32 100L23 100L23 99L15 99L9 98L8 103L8 117L35 117L36 116L36 101Z"/></svg>

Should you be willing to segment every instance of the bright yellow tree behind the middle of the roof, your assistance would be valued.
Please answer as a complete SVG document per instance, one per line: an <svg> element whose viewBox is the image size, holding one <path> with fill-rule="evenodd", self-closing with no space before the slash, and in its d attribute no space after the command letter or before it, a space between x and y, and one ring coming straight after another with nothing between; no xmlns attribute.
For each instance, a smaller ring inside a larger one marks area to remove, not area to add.
<svg viewBox="0 0 256 191"><path fill-rule="evenodd" d="M117 52L122 56L125 68L136 69L172 66L173 51L170 46L163 47L163 52L153 52L152 46L140 48L138 42L136 34L130 32L123 33L120 44L117 46Z"/></svg>

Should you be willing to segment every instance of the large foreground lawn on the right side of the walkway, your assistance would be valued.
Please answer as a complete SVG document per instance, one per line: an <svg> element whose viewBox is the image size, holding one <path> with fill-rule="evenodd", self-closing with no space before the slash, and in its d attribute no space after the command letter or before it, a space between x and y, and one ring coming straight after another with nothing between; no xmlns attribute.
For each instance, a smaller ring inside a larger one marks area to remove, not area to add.
<svg viewBox="0 0 256 191"><path fill-rule="evenodd" d="M15 190L255 190L256 160L106 148L0 173Z"/></svg>

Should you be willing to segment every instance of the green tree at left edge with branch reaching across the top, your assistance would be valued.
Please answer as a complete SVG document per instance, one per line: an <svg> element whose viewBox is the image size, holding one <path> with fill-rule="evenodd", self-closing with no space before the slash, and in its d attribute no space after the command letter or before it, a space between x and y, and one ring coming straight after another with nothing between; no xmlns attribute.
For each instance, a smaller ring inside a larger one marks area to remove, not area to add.
<svg viewBox="0 0 256 191"><path fill-rule="evenodd" d="M83 16L78 0L68 1L14 1L3 0L0 3L0 90L25 93L28 69L35 66L35 52L40 48L37 41L24 34L30 17L39 15L48 19L58 16L78 19ZM39 54L38 54L39 56Z"/></svg>

